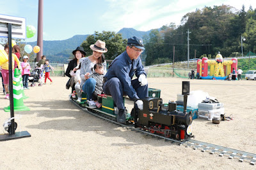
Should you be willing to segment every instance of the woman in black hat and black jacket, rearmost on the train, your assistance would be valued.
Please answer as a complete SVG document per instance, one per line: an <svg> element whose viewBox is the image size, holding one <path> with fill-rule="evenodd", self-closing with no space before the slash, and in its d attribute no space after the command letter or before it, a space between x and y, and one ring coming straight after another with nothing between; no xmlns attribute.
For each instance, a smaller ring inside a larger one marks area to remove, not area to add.
<svg viewBox="0 0 256 170"><path fill-rule="evenodd" d="M79 59L83 58L86 55L86 52L84 51L83 47L77 47L76 50L74 50L72 53L74 54L75 58L68 63L68 68L65 72L65 75L67 75L67 77L71 79L70 86L72 87L72 91L74 91L75 90L74 77L70 75L70 72L72 70L76 72L77 70L76 66L79 65Z"/></svg>

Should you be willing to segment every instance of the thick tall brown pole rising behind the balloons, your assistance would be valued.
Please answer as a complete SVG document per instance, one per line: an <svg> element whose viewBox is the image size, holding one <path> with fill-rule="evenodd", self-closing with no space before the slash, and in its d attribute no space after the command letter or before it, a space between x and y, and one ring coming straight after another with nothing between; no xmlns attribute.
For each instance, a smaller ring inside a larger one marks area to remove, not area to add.
<svg viewBox="0 0 256 170"><path fill-rule="evenodd" d="M40 51L36 54L36 61L43 56L43 15L44 15L44 0L38 0L38 24L37 24L37 45Z"/></svg>

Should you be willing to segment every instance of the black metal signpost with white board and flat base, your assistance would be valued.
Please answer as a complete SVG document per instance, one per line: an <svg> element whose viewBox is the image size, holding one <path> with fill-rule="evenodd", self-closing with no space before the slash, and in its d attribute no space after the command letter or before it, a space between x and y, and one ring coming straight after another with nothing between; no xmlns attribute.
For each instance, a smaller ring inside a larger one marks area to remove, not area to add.
<svg viewBox="0 0 256 170"><path fill-rule="evenodd" d="M0 14L0 36L8 37L9 44L9 89L10 89L10 124L8 127L9 134L0 135L0 141L8 141L12 139L19 139L22 137L31 137L29 132L16 132L17 124L14 120L13 109L13 79L12 79L12 35L13 38L26 38L26 19L20 17L12 17Z"/></svg>

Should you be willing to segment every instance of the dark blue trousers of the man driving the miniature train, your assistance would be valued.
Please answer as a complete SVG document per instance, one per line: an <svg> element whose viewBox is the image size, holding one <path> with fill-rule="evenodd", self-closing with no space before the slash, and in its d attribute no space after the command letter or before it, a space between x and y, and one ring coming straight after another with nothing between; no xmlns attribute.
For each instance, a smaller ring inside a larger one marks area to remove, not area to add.
<svg viewBox="0 0 256 170"><path fill-rule="evenodd" d="M145 86L141 86L138 79L132 80L132 87L135 89L139 98L148 97L148 84ZM123 96L126 95L124 93L123 85L120 80L116 77L113 77L109 81L104 83L103 91L106 95L111 95L116 107L118 109L125 109ZM131 98L132 100L136 98Z"/></svg>

